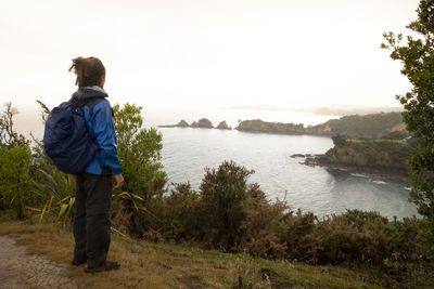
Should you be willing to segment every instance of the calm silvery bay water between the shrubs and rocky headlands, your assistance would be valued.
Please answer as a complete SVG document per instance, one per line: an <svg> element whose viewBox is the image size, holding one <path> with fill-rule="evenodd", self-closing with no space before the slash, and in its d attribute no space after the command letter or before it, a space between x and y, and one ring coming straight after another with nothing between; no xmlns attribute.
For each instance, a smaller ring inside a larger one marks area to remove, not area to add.
<svg viewBox="0 0 434 289"><path fill-rule="evenodd" d="M408 202L409 184L363 173L311 168L292 154L323 154L331 139L275 135L191 128L161 129L163 165L170 182L190 181L199 188L204 168L232 159L255 170L250 178L269 199L284 199L292 208L323 216L345 209L374 210L393 218L417 214Z"/></svg>

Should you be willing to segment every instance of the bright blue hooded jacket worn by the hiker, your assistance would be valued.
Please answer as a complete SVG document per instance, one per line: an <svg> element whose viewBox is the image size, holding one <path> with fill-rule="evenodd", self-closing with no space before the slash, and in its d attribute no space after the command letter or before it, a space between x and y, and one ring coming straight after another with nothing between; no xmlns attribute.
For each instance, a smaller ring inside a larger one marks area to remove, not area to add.
<svg viewBox="0 0 434 289"><path fill-rule="evenodd" d="M93 107L85 105L85 120L89 134L98 147L94 158L86 167L85 171L93 174L119 174L122 166L117 156L117 139L113 124L113 110L110 106L107 93L100 87L79 88L73 94L72 100L82 103L92 97L104 97Z"/></svg>

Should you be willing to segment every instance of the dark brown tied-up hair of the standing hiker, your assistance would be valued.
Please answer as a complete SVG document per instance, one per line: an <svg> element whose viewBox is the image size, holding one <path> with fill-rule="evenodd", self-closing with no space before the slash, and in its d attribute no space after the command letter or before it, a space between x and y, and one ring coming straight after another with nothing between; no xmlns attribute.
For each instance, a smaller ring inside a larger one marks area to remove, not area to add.
<svg viewBox="0 0 434 289"><path fill-rule="evenodd" d="M69 70L77 76L75 83L79 87L100 86L105 76L105 67L97 57L77 57L73 60Z"/></svg>

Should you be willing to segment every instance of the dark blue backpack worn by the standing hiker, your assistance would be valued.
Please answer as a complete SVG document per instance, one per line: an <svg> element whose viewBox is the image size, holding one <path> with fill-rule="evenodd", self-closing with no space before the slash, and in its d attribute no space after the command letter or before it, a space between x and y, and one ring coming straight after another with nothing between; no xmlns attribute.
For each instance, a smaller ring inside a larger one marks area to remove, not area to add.
<svg viewBox="0 0 434 289"><path fill-rule="evenodd" d="M92 115L93 106L104 97L92 97L86 103L74 100L54 107L46 121L43 147L54 166L65 172L84 172L98 150L86 126L82 106L88 105Z"/></svg>

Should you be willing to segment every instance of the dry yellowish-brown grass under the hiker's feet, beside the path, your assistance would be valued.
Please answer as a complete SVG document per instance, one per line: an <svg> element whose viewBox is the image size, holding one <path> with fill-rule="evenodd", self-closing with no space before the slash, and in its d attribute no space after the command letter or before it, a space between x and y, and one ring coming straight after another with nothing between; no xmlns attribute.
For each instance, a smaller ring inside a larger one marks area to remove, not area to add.
<svg viewBox="0 0 434 289"><path fill-rule="evenodd" d="M25 235L21 239L29 246L30 253L42 253L61 263L72 260L74 240L67 227L3 222L0 235L5 234ZM120 268L86 274L85 265L72 266L71 275L86 288L375 288L368 276L340 267L152 244L115 234L108 259L120 262Z"/></svg>

